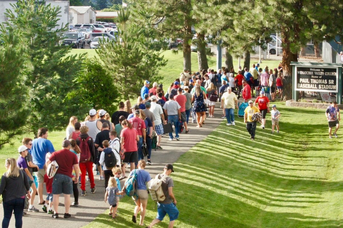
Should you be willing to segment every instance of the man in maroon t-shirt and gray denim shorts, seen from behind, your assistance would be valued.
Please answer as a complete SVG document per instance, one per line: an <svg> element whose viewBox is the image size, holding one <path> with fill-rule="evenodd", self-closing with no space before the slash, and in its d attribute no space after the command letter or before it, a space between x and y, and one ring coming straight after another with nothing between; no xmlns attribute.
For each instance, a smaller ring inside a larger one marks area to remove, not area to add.
<svg viewBox="0 0 343 228"><path fill-rule="evenodd" d="M54 214L53 218L58 218L58 204L59 196L61 193L64 195L64 207L66 212L64 213L64 218L69 218L70 207L70 194L73 193L73 180L72 171L73 167L75 170L75 184L79 180L79 163L78 157L74 153L70 152L70 141L63 140L62 147L60 151L52 153L52 155L46 161L46 167L52 162L56 161L58 164L58 169L52 181L52 194L53 194L53 204L54 204Z"/></svg>

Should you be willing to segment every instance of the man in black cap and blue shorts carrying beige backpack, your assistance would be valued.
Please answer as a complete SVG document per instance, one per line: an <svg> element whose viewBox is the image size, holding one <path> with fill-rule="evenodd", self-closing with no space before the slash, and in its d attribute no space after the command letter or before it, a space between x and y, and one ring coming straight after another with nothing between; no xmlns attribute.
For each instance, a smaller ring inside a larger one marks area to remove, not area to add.
<svg viewBox="0 0 343 228"><path fill-rule="evenodd" d="M174 172L173 165L167 164L163 170L162 174L157 175L155 179L152 179L150 182L152 184L154 181L158 181L157 179L162 180L160 188L162 188L165 199L157 202L157 216L146 228L151 228L155 224L161 222L166 214L169 216L168 228L174 227L174 222L179 216L179 210L176 207L176 199L173 193L174 182L173 179L169 177L170 173ZM151 184L149 184L149 186L151 186ZM150 192L152 193L154 191ZM158 195L157 197L161 197L161 195Z"/></svg>

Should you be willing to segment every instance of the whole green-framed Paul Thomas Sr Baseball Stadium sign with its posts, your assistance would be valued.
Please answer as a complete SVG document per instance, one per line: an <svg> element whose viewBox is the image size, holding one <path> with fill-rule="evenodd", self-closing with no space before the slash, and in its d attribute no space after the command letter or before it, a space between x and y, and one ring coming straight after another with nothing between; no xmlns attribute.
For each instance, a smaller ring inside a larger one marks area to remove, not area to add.
<svg viewBox="0 0 343 228"><path fill-rule="evenodd" d="M293 66L293 100L297 91L336 93L342 104L342 64L318 62L291 62Z"/></svg>

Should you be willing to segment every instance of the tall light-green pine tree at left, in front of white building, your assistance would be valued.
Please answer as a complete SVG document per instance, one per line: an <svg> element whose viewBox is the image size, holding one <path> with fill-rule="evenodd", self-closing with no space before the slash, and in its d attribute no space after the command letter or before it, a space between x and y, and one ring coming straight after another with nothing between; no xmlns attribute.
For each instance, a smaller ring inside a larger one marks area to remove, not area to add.
<svg viewBox="0 0 343 228"><path fill-rule="evenodd" d="M13 29L24 50L22 79L28 87L29 108L24 129L34 133L40 127L62 129L70 116L84 111L78 100L67 98L82 69L83 56L68 56L70 47L56 45L67 31L65 25L58 27L59 14L60 8L35 0L18 1L13 12L5 14L7 29Z"/></svg>

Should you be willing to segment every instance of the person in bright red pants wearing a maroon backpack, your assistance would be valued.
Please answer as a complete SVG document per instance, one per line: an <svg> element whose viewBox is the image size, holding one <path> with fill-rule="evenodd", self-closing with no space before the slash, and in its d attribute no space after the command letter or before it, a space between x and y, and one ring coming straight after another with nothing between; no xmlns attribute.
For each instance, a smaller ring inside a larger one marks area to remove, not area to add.
<svg viewBox="0 0 343 228"><path fill-rule="evenodd" d="M90 137L87 126L81 126L80 135L76 138L76 144L80 147L80 171L81 171L81 195L86 195L86 170L88 173L88 178L91 182L91 193L95 192L95 183L93 176L93 162L95 161L95 146L92 137Z"/></svg>

